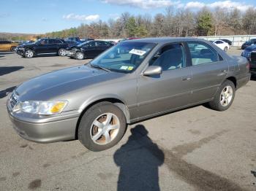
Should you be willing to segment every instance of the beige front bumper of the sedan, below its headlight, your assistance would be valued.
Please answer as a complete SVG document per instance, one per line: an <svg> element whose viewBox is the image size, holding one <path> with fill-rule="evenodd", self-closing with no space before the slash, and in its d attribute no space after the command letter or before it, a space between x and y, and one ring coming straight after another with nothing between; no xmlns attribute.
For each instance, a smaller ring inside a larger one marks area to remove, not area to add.
<svg viewBox="0 0 256 191"><path fill-rule="evenodd" d="M15 117L7 108L13 128L23 139L38 143L50 143L75 139L75 130L78 122L78 112L62 114L57 119L36 120ZM59 118L59 119L58 119Z"/></svg>

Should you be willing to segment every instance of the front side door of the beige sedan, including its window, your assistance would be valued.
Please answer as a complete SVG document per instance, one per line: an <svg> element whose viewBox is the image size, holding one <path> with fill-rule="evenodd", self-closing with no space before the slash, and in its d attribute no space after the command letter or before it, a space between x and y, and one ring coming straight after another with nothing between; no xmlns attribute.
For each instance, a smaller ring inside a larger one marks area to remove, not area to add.
<svg viewBox="0 0 256 191"><path fill-rule="evenodd" d="M191 67L183 44L167 44L149 62L161 66L162 74L138 78L138 110L140 117L167 112L190 104Z"/></svg>

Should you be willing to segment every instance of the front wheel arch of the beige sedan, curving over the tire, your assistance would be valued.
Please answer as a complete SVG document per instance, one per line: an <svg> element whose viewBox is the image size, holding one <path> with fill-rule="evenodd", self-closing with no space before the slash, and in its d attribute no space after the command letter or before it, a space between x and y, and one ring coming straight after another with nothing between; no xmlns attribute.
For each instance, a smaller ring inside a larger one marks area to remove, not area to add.
<svg viewBox="0 0 256 191"><path fill-rule="evenodd" d="M80 124L80 120L83 117L83 114L89 109L91 108L91 106L94 106L95 104L99 104L102 102L109 102L112 103L116 106L118 106L119 109L121 109L121 111L124 113L124 116L127 120L127 123L130 122L130 115L129 115L129 109L127 108L127 105L125 104L124 101L122 101L120 98L116 97L116 96L108 96L108 97L102 97L102 98L95 98L89 102L87 102L86 104L84 104L80 110L82 111L80 113L80 116L78 118L78 122L76 125L76 129L75 129L75 139L78 139L78 127Z"/></svg>

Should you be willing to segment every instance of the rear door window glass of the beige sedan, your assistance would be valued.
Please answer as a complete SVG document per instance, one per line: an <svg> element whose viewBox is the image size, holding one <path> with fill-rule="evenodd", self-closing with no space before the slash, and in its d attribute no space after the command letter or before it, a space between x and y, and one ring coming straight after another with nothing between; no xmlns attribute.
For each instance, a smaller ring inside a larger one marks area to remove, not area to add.
<svg viewBox="0 0 256 191"><path fill-rule="evenodd" d="M192 58L192 66L214 63L220 60L216 50L203 42L188 42L189 52Z"/></svg>

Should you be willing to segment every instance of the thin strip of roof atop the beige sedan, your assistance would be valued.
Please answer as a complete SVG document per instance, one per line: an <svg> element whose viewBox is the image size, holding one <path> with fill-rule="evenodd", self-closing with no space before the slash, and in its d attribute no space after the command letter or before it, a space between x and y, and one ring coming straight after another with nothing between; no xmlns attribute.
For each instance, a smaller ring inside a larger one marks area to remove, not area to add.
<svg viewBox="0 0 256 191"><path fill-rule="evenodd" d="M148 43L166 44L168 42L184 42L184 41L185 42L186 41L206 42L206 40L204 39L198 39L194 37L154 37L154 38L132 39L124 42L148 42Z"/></svg>

